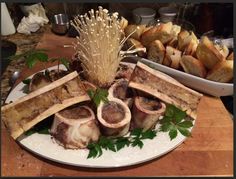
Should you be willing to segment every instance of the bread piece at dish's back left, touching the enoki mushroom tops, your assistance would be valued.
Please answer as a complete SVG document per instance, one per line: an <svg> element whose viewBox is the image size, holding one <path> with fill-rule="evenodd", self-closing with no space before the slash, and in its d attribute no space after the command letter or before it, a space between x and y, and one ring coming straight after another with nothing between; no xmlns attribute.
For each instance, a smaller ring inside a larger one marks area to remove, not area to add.
<svg viewBox="0 0 236 179"><path fill-rule="evenodd" d="M131 33L134 33L130 36L133 39L140 40L140 36L143 33L146 25L128 25L124 31L125 31L125 36L128 37Z"/></svg>

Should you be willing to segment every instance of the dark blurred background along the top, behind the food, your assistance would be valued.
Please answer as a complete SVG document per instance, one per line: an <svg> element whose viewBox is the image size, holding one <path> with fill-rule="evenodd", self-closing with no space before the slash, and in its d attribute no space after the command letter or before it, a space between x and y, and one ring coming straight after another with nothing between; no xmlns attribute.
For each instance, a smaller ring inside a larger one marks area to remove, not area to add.
<svg viewBox="0 0 236 179"><path fill-rule="evenodd" d="M13 23L17 27L24 17L22 7L34 3L6 3ZM187 21L195 33L201 36L210 32L211 35L229 38L233 36L233 3L42 3L46 15L52 19L54 14L66 13L69 19L75 15L84 14L91 8L99 5L112 12L119 12L129 22L132 22L132 10L139 7L148 7L158 12L161 7L175 7L176 18ZM156 13L156 18L160 14Z"/></svg>

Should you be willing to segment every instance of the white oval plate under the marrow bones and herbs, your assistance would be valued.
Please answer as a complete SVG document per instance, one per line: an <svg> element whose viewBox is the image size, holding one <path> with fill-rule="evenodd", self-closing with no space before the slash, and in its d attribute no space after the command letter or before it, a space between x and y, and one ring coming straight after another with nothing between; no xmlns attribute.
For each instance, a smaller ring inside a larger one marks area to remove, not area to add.
<svg viewBox="0 0 236 179"><path fill-rule="evenodd" d="M52 67L49 70L55 68ZM19 83L7 97L6 103L24 96L23 87L24 84ZM157 125L157 127L159 126ZM89 152L87 149L64 149L55 143L50 135L34 133L31 136L21 137L18 142L36 155L62 164L91 168L114 168L135 165L158 158L175 149L185 139L186 137L178 132L177 137L171 141L168 133L158 132L154 139L143 141L142 149L125 147L118 152L104 150L103 155L99 158L91 159L87 159Z"/></svg>

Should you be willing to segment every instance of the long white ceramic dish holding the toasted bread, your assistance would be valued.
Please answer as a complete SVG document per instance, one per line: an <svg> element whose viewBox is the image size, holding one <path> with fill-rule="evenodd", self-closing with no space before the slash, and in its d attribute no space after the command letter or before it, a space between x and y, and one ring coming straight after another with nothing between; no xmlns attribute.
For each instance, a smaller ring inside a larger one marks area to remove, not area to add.
<svg viewBox="0 0 236 179"><path fill-rule="evenodd" d="M146 65L159 70L163 73L166 73L172 76L174 79L179 81L180 83L188 86L196 91L211 95L211 96L231 96L234 92L234 84L233 83L219 83L215 81L210 81L204 78L200 78L155 62L152 62L145 58L139 57L128 57L125 61L129 62L137 62L141 61Z"/></svg>

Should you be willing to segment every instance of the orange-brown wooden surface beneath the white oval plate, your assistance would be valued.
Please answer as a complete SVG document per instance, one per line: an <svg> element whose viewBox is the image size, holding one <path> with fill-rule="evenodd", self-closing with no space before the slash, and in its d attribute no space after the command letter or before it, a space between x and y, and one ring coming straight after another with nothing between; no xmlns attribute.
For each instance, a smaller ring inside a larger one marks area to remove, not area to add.
<svg viewBox="0 0 236 179"><path fill-rule="evenodd" d="M48 49L50 57L70 58L73 49L63 45L73 40L46 32L37 48ZM32 70L23 70L20 80L41 69L39 64ZM191 138L159 159L130 167L62 165L22 149L3 125L1 137L2 176L233 176L233 120L221 100L209 96L204 96L199 104Z"/></svg>

